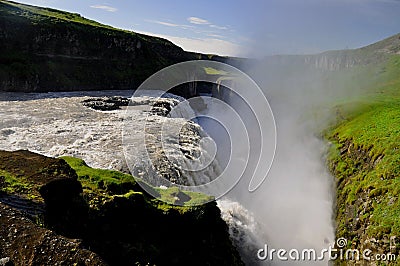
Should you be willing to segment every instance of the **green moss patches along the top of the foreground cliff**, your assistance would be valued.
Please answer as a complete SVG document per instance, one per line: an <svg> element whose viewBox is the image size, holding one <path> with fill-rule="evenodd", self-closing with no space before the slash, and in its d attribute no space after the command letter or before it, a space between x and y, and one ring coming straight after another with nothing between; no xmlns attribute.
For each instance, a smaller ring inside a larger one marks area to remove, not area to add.
<svg viewBox="0 0 400 266"><path fill-rule="evenodd" d="M154 188L143 183L143 181L139 181L142 182L143 186L146 186L147 190L152 190L151 194L157 195L157 199L150 196L136 182L135 178L129 174L107 169L91 168L85 161L79 158L65 156L62 159L75 170L78 180L82 184L83 197L89 206L94 209L98 209L114 197L130 198L138 194L142 195L149 206L163 212L173 209L179 213L185 213L190 211L192 206L194 207L213 200L212 197L205 194L181 191L177 187ZM18 168L18 171L0 169L0 190L8 194L19 195L26 199L43 202L39 193L41 184L34 182L32 176L46 175L49 171L51 174L58 174L57 169L52 169L52 167L40 168L39 172L24 171L22 168ZM179 197L186 199L184 202L179 203L181 206L175 205Z"/></svg>

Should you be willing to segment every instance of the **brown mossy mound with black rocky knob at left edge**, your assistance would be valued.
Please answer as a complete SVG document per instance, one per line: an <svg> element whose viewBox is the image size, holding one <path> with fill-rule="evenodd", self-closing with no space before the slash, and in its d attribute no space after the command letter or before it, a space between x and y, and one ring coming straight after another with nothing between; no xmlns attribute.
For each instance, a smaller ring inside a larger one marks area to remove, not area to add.
<svg viewBox="0 0 400 266"><path fill-rule="evenodd" d="M64 160L20 150L0 151L0 161L1 202L33 221L62 225L58 226L62 232L80 230L78 221L86 219L88 207L81 197L78 176Z"/></svg>

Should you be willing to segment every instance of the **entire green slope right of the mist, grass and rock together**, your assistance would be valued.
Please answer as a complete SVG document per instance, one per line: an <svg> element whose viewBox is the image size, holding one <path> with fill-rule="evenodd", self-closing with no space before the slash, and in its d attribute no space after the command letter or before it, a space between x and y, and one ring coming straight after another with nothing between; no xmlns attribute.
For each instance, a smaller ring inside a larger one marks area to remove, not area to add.
<svg viewBox="0 0 400 266"><path fill-rule="evenodd" d="M336 75L342 86L362 91L338 103L341 121L327 131L338 182L337 237L358 246L368 238L387 241L400 236L400 55Z"/></svg>

